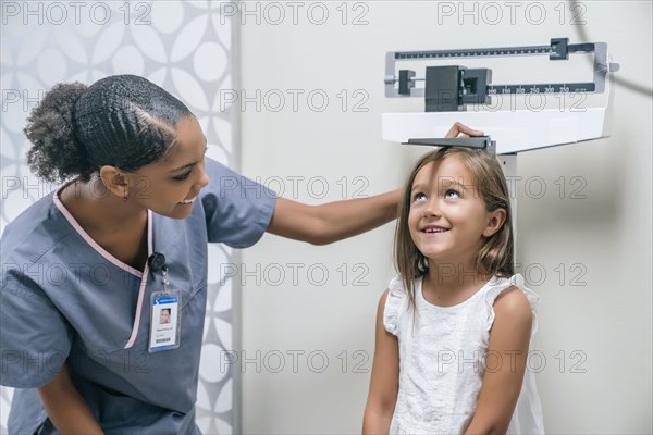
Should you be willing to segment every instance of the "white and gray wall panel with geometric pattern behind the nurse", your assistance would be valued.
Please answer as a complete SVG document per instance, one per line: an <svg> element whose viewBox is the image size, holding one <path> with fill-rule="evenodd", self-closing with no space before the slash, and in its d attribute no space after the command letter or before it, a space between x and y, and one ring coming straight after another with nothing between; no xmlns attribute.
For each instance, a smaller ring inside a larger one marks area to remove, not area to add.
<svg viewBox="0 0 653 435"><path fill-rule="evenodd" d="M29 110L60 82L84 84L113 74L137 74L168 89L195 113L208 139L207 154L237 165L237 120L220 108L232 87L233 36L220 2L209 1L2 1L0 228L57 186L30 174L22 129ZM209 246L210 264L235 262L225 246ZM220 356L233 348L231 281L209 268L209 298L197 397L197 424L206 434L232 433L233 377ZM221 285L223 284L223 285ZM7 432L11 388L0 389L0 431Z"/></svg>

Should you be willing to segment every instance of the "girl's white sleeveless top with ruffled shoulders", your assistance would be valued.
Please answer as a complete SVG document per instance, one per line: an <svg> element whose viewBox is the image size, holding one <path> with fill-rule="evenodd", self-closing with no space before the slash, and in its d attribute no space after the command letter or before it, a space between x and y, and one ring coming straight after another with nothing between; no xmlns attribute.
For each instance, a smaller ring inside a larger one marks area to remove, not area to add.
<svg viewBox="0 0 653 435"><path fill-rule="evenodd" d="M399 391L391 434L460 434L473 417L485 370L509 364L510 355L488 353L494 301L510 286L519 288L533 310L539 297L519 274L490 279L466 301L438 307L424 300L422 279L415 282L417 313L409 308L401 278L390 283L383 312L385 330L398 338ZM508 433L544 433L535 376L528 364Z"/></svg>

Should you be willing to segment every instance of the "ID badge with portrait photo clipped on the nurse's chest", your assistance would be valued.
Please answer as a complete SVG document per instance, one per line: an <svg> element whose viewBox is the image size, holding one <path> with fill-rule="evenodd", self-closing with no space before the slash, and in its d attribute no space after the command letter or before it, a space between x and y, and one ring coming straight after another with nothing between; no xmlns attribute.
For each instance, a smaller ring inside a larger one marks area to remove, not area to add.
<svg viewBox="0 0 653 435"><path fill-rule="evenodd" d="M176 290L155 291L150 299L150 353L180 347L182 295Z"/></svg>

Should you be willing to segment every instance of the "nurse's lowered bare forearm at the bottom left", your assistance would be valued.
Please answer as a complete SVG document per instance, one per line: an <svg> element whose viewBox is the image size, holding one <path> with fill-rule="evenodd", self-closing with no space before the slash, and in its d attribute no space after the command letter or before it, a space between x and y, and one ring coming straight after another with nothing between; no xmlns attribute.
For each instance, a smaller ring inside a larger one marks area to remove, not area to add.
<svg viewBox="0 0 653 435"><path fill-rule="evenodd" d="M102 434L102 428L90 412L88 405L73 385L67 368L50 382L38 388L48 418L61 434Z"/></svg>

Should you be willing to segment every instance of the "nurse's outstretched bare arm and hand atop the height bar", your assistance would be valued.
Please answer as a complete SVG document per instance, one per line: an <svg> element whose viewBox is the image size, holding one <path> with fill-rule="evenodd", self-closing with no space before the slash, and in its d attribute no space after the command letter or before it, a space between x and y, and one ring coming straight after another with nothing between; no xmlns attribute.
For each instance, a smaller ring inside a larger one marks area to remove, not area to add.
<svg viewBox="0 0 653 435"><path fill-rule="evenodd" d="M447 138L483 133L455 123ZM313 245L326 245L365 233L396 217L401 191L365 199L308 206L279 198L268 232Z"/></svg>

